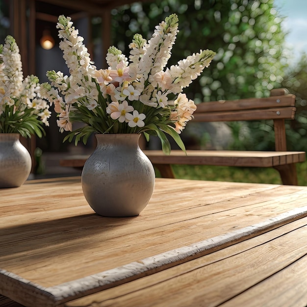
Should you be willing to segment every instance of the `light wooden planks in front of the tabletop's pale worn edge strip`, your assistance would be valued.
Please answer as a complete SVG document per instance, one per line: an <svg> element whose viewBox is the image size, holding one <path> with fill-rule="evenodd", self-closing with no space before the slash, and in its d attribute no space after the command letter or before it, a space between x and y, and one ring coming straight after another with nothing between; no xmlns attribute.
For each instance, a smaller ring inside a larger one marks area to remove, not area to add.
<svg viewBox="0 0 307 307"><path fill-rule="evenodd" d="M289 306L289 302L304 303L305 300L306 303L306 225L307 218L298 220L64 306L89 307L97 304L100 307L139 307L144 306L145 300L147 307L282 307ZM294 271L293 268L302 270Z"/></svg>

